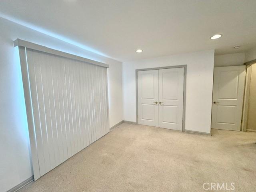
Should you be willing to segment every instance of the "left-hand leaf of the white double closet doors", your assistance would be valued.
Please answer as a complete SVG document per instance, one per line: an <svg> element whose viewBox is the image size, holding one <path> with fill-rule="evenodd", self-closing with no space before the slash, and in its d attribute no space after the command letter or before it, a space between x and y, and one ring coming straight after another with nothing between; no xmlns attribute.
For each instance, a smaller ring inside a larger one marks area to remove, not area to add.
<svg viewBox="0 0 256 192"><path fill-rule="evenodd" d="M138 71L138 123L158 126L158 70Z"/></svg>

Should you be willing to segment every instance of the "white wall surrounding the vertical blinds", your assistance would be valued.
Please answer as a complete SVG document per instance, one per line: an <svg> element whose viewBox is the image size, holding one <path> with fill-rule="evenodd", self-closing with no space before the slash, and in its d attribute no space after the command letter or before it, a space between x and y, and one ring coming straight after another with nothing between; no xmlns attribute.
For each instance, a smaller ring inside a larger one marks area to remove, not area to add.
<svg viewBox="0 0 256 192"><path fill-rule="evenodd" d="M32 176L20 62L13 40L20 38L109 64L110 127L123 120L122 65L2 18L0 28L0 191L5 192Z"/></svg>

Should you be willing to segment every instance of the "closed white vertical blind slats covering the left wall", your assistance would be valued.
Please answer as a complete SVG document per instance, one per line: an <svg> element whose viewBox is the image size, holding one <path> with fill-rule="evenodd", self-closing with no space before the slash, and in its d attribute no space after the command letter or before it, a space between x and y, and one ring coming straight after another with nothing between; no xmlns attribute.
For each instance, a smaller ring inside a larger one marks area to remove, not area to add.
<svg viewBox="0 0 256 192"><path fill-rule="evenodd" d="M42 176L109 132L107 69L30 48L26 59Z"/></svg>

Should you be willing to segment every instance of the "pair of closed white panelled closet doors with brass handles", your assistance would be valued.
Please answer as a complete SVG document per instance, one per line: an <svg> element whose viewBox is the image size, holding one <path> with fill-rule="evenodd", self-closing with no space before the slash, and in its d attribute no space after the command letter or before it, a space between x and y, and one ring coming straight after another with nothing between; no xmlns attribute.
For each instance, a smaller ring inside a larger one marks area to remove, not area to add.
<svg viewBox="0 0 256 192"><path fill-rule="evenodd" d="M184 68L138 71L138 124L182 131Z"/></svg>

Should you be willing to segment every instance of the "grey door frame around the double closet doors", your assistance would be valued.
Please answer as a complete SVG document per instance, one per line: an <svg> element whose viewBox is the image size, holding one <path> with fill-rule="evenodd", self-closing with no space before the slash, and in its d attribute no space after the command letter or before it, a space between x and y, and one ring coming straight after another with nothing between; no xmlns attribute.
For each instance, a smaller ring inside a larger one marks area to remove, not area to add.
<svg viewBox="0 0 256 192"><path fill-rule="evenodd" d="M182 131L185 131L187 65L176 65L176 66L156 67L156 68L144 68L144 69L136 69L135 70L135 75L136 75L136 124L138 124L138 71L171 69L171 68L184 68Z"/></svg>

